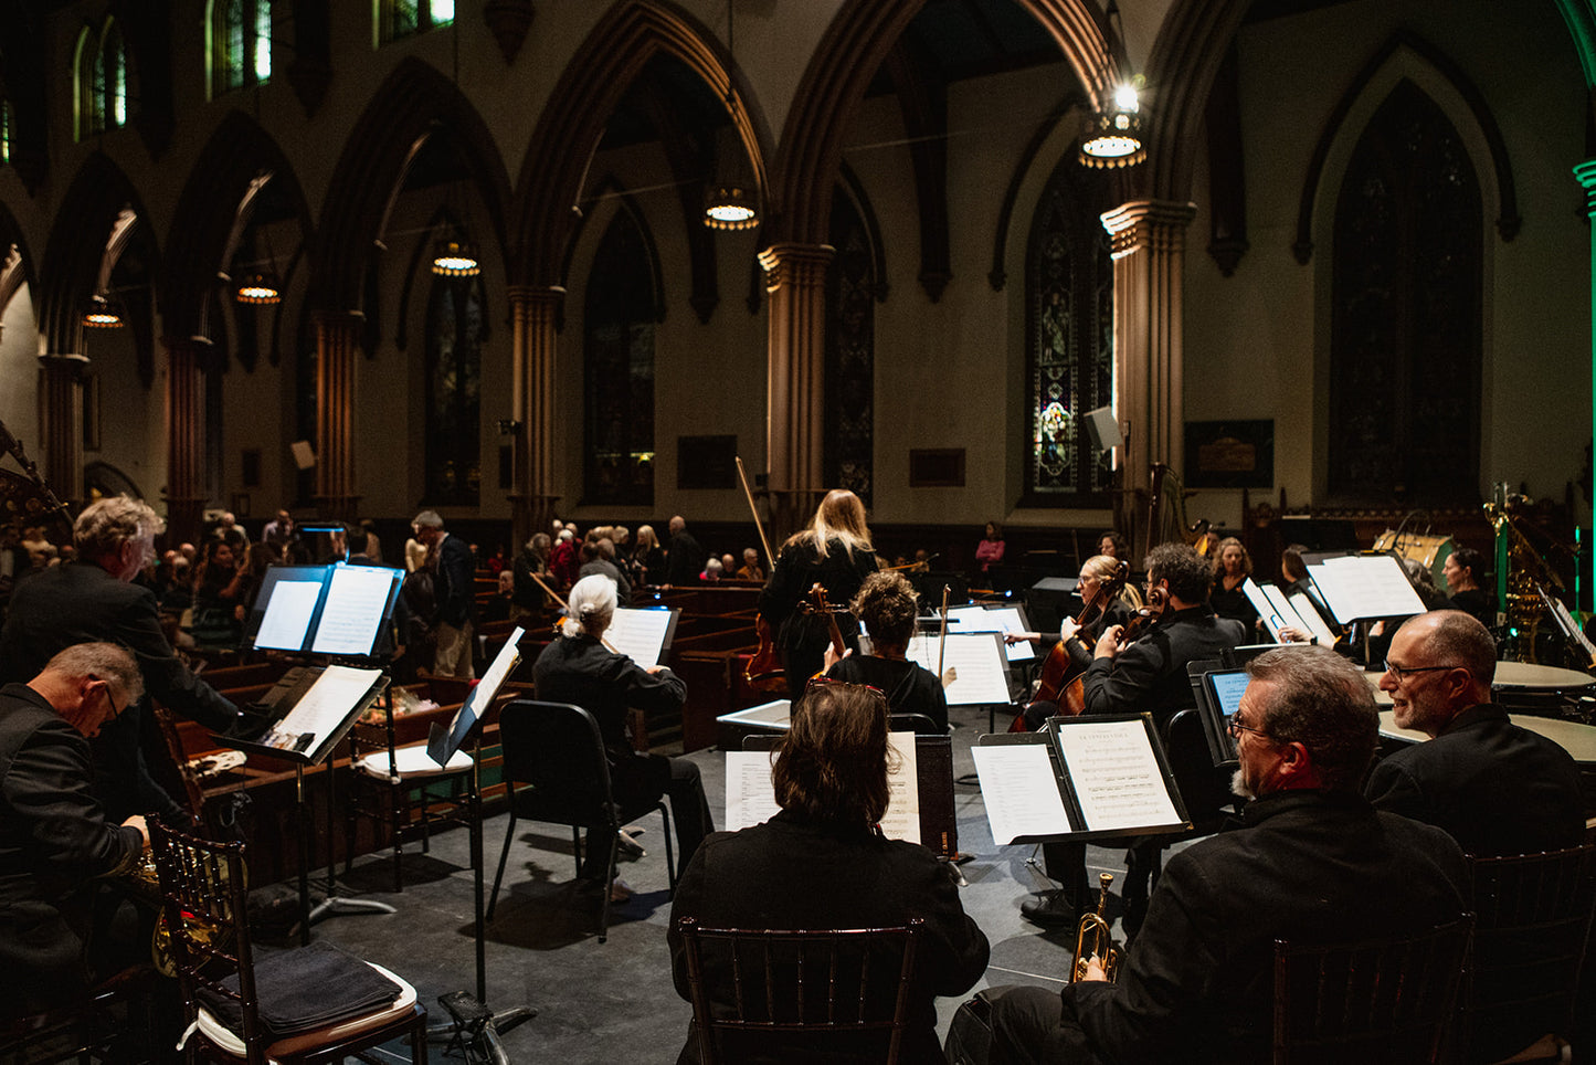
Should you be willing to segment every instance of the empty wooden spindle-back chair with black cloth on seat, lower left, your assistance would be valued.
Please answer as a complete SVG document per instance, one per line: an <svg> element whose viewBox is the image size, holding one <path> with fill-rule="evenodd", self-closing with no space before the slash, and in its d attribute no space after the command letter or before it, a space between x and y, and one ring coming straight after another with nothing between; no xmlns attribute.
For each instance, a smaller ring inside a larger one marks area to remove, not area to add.
<svg viewBox="0 0 1596 1065"><path fill-rule="evenodd" d="M212 843L150 824L161 902L188 1022L187 1049L214 1062L338 1062L356 1051L409 1035L410 1060L426 1065L426 1009L415 988L380 966L401 995L369 1014L275 1038L262 1023L255 958L246 920L244 845ZM369 964L369 963L367 963ZM236 1003L243 1033L231 1031L201 993ZM270 1003L267 1004L270 1008Z"/></svg>

